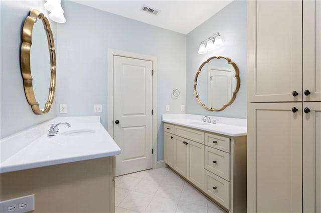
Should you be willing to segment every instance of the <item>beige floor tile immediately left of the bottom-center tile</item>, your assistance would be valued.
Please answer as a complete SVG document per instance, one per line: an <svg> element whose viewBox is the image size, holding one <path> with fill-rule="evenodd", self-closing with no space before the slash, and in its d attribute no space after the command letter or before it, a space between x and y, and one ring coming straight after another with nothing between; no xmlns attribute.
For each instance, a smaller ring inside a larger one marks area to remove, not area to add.
<svg viewBox="0 0 321 213"><path fill-rule="evenodd" d="M151 199L152 196L150 196L149 194L131 191L118 205L118 207L137 212L144 212Z"/></svg>

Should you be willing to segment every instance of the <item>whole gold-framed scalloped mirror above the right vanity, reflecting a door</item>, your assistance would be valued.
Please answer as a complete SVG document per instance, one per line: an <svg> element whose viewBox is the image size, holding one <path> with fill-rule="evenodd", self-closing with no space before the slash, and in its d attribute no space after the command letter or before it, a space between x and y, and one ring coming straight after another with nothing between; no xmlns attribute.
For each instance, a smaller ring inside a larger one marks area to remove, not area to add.
<svg viewBox="0 0 321 213"><path fill-rule="evenodd" d="M239 88L239 69L229 57L208 58L194 79L196 100L209 111L222 111L231 105Z"/></svg>

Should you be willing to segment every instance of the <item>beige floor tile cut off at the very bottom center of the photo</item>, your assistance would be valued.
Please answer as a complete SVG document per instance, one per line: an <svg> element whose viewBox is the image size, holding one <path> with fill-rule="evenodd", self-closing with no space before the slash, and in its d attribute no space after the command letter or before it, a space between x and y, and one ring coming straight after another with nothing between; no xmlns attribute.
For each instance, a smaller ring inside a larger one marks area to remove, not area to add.
<svg viewBox="0 0 321 213"><path fill-rule="evenodd" d="M154 196L145 212L175 212L178 200Z"/></svg>

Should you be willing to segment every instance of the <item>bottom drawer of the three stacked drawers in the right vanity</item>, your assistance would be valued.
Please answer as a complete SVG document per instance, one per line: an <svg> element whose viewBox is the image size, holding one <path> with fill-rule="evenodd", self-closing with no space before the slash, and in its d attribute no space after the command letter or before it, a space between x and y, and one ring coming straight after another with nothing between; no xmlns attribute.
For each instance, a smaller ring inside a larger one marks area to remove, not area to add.
<svg viewBox="0 0 321 213"><path fill-rule="evenodd" d="M227 209L230 208L230 182L206 169L204 169L204 192Z"/></svg>

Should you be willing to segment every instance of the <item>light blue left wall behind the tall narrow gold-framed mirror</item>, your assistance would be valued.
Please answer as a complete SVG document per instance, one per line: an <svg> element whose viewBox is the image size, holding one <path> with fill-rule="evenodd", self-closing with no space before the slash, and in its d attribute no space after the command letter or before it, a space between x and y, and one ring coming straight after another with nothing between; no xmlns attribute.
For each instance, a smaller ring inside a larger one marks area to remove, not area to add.
<svg viewBox="0 0 321 213"><path fill-rule="evenodd" d="M1 128L0 137L6 137L56 116L55 104L44 115L36 115L27 102L20 71L21 32L31 9L45 11L45 1L2 0L1 5ZM48 13L45 13L48 16ZM56 23L51 22L54 37ZM48 74L50 70L48 68ZM48 85L49 88L49 85ZM46 88L46 89L48 89Z"/></svg>

